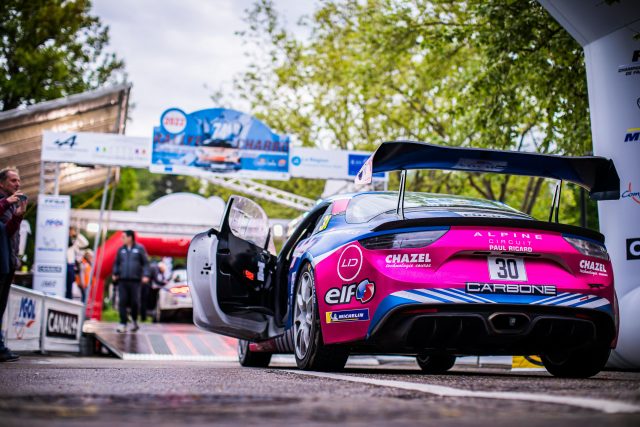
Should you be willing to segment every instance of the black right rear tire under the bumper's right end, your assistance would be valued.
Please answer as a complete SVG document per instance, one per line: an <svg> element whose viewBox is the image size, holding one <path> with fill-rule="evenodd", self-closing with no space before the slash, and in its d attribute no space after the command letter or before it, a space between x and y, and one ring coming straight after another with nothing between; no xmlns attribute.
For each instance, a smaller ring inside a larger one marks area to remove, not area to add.
<svg viewBox="0 0 640 427"><path fill-rule="evenodd" d="M599 344L573 352L543 354L541 359L554 377L589 378L604 368L610 353L608 345Z"/></svg>

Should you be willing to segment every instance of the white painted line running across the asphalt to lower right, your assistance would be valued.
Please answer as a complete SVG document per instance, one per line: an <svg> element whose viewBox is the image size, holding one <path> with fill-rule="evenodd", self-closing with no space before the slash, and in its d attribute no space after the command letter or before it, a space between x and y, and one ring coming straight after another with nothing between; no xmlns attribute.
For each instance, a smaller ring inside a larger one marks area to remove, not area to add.
<svg viewBox="0 0 640 427"><path fill-rule="evenodd" d="M286 370L285 372L318 378L329 378L338 381L350 381L354 383L377 385L381 387L392 387L402 390L421 391L423 393L435 394L436 396L441 397L473 397L480 399L523 400L527 402L542 402L552 403L555 405L577 406L580 408L605 412L607 414L640 412L640 406L638 405L608 399L594 399L590 397L547 395L510 391L472 391L435 384L379 380L375 378L363 378L350 375L331 374L327 372L307 372L296 370Z"/></svg>

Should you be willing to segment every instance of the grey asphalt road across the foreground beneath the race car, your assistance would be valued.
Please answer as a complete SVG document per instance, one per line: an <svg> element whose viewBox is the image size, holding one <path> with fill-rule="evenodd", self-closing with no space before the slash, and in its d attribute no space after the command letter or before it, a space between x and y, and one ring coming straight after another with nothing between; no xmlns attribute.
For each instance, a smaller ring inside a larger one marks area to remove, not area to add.
<svg viewBox="0 0 640 427"><path fill-rule="evenodd" d="M274 365L25 356L0 365L0 425L640 425L638 372L350 364L318 377Z"/></svg>

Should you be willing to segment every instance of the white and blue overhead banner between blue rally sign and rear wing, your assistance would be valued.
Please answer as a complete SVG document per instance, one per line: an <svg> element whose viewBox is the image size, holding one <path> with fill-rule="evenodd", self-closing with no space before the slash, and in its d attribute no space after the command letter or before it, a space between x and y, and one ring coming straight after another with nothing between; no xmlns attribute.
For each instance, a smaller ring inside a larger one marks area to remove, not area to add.
<svg viewBox="0 0 640 427"><path fill-rule="evenodd" d="M313 179L353 180L371 153L364 151L322 150L292 147L289 171L291 176ZM377 173L375 179L385 179Z"/></svg>

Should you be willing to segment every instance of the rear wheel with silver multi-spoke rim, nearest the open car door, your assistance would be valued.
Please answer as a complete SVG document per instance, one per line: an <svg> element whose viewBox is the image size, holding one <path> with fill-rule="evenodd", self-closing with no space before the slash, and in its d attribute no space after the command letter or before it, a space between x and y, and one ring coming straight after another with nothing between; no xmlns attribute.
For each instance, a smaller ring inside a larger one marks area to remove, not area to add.
<svg viewBox="0 0 640 427"><path fill-rule="evenodd" d="M311 265L302 267L296 284L293 336L298 368L307 371L339 371L349 358L349 348L325 345Z"/></svg>

